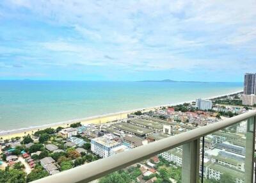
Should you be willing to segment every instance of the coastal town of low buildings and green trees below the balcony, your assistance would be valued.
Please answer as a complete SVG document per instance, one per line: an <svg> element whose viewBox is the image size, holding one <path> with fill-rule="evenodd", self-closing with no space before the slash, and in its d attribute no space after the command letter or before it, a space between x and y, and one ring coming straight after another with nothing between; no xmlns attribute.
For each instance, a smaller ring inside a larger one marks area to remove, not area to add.
<svg viewBox="0 0 256 183"><path fill-rule="evenodd" d="M33 134L1 138L0 182L31 182L132 148L175 136L225 118L246 113L243 93L176 106L136 111L120 120L40 129ZM246 121L204 139L205 182L244 182ZM202 158L202 141L200 142ZM182 147L168 150L94 182L181 182Z"/></svg>

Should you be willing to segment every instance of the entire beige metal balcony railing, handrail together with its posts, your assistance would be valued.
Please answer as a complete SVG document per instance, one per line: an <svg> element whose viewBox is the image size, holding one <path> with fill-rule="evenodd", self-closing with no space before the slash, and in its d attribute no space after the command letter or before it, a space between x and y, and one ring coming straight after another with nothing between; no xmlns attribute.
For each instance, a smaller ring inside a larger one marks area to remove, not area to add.
<svg viewBox="0 0 256 183"><path fill-rule="evenodd" d="M84 164L61 173L35 180L34 183L71 183L90 182L100 177L104 177L116 170L122 170L127 166L139 163L145 159L166 152L182 145L182 182L200 182L200 138L208 134L220 131L239 122L247 120L246 145L245 145L245 171L244 182L253 182L254 175L254 151L255 151L255 116L256 110L244 113L243 115L227 118L220 122L212 123L204 127L198 127L191 131L182 132L169 138L161 139L148 145L133 148L132 150L115 154L105 159L100 159L92 163ZM204 152L204 150L203 150ZM204 158L203 158L204 159ZM204 167L204 166L202 166ZM204 170L203 170L204 171Z"/></svg>

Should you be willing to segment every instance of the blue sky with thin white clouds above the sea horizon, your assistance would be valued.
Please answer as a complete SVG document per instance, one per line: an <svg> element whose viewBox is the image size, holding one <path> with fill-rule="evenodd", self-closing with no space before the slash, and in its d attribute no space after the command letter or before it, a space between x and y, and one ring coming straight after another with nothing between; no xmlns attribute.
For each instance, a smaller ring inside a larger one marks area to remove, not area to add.
<svg viewBox="0 0 256 183"><path fill-rule="evenodd" d="M243 81L255 0L1 0L0 79Z"/></svg>

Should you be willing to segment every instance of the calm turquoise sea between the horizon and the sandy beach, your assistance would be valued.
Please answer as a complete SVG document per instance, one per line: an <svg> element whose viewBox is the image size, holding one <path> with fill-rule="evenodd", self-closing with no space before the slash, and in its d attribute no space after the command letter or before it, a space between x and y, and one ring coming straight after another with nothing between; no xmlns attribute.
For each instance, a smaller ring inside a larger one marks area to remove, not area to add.
<svg viewBox="0 0 256 183"><path fill-rule="evenodd" d="M0 81L0 130L243 90L243 83Z"/></svg>

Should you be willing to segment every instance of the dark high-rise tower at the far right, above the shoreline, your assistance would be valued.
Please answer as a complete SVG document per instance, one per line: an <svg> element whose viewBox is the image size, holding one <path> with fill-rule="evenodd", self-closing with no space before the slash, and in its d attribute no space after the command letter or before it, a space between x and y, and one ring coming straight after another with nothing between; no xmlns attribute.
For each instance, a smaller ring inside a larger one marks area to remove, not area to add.
<svg viewBox="0 0 256 183"><path fill-rule="evenodd" d="M256 74L244 74L244 95L256 94Z"/></svg>

